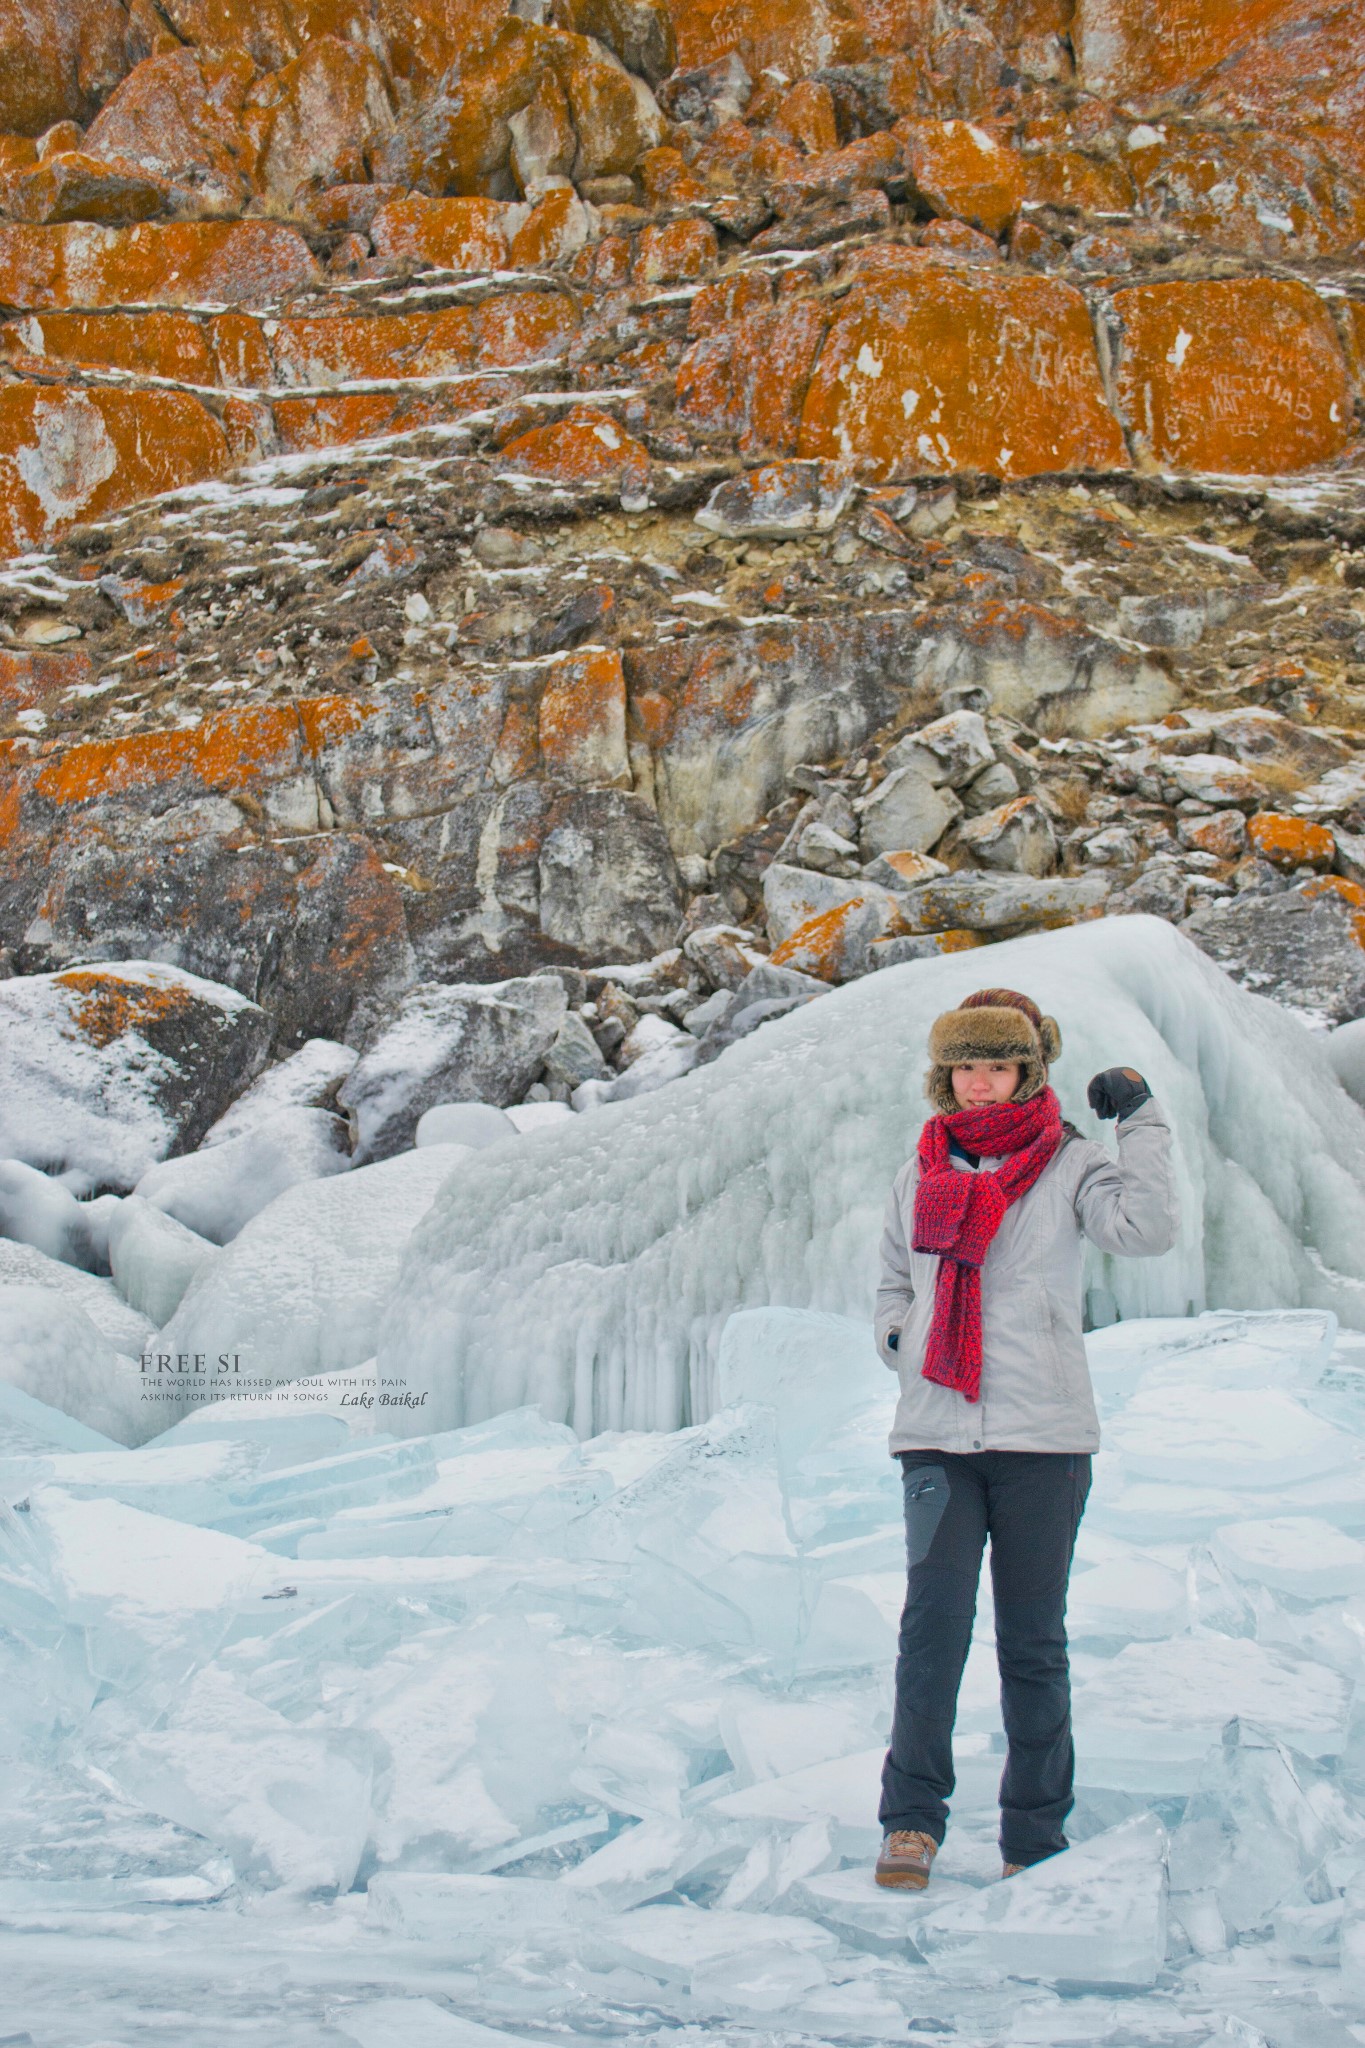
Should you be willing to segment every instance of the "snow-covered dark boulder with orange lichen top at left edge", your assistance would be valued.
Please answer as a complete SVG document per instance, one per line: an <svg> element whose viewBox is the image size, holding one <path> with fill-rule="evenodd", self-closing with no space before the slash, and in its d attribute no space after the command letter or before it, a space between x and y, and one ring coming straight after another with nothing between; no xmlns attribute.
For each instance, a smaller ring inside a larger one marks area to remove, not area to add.
<svg viewBox="0 0 1365 2048"><path fill-rule="evenodd" d="M268 1038L246 995L149 961L0 981L0 1155L131 1188L199 1145Z"/></svg>

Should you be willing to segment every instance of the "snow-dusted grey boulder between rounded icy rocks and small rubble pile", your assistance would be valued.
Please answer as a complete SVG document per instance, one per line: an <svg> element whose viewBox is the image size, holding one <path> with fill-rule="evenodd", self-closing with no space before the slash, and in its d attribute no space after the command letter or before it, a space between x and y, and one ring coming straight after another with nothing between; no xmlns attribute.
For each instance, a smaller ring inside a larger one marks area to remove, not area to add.
<svg viewBox="0 0 1365 2048"><path fill-rule="evenodd" d="M356 1126L356 1157L407 1151L438 1102L520 1102L565 1020L557 975L495 983L417 983L346 1077L340 1104Z"/></svg>

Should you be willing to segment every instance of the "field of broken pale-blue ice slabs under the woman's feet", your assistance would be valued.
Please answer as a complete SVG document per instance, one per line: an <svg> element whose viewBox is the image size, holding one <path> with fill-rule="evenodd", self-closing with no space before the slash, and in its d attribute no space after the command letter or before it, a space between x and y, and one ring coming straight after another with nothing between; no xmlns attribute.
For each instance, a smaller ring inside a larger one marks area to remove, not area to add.
<svg viewBox="0 0 1365 2048"><path fill-rule="evenodd" d="M1365 1339L1089 1346L1074 1849L999 1882L986 1581L925 1894L870 1878L866 1323L735 1315L671 1436L395 1442L299 1386L123 1450L0 1389L0 2038L1351 2048Z"/></svg>

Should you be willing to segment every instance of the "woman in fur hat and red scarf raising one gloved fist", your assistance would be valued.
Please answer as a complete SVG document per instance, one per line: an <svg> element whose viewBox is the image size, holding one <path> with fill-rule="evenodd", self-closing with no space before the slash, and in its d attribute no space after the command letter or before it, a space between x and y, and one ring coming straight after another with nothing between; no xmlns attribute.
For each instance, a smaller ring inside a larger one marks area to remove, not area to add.
<svg viewBox="0 0 1365 2048"><path fill-rule="evenodd" d="M1066 1579L1099 1421L1081 1337L1081 1237L1150 1257L1177 1235L1171 1126L1132 1067L1089 1087L1109 1157L1062 1122L1062 1036L1013 989L935 1020L935 1114L886 1206L876 1339L900 1376L909 1585L882 1769L878 1884L929 1882L954 1790L952 1731L990 1536L1009 1755L1005 1876L1066 1847L1072 1808Z"/></svg>

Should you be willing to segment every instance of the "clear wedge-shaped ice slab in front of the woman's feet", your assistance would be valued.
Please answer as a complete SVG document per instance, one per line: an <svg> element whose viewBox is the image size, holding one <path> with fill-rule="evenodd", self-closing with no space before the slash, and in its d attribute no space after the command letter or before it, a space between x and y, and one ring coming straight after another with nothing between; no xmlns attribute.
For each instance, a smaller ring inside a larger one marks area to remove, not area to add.
<svg viewBox="0 0 1365 2048"><path fill-rule="evenodd" d="M1166 1960L1164 1853L1156 1815L1138 1815L923 1915L915 1946L941 1976L1154 1985Z"/></svg>

